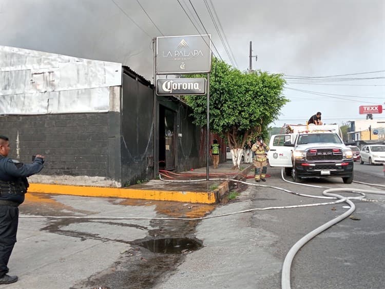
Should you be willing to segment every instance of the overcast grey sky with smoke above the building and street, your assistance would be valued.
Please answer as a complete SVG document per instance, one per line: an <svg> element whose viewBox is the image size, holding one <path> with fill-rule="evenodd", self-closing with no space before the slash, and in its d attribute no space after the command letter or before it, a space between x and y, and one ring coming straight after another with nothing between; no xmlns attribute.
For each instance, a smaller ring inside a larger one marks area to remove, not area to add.
<svg viewBox="0 0 385 289"><path fill-rule="evenodd" d="M385 101L384 0L138 1L0 0L0 45L120 62L152 82L151 39L198 34L181 5L205 33L191 1L223 60L246 70L252 41L253 69L285 74L291 102L276 125L304 123L317 111L326 123L364 119L359 105ZM234 60L205 3L218 15ZM339 77L347 74L357 75ZM328 82L307 78L336 75Z"/></svg>

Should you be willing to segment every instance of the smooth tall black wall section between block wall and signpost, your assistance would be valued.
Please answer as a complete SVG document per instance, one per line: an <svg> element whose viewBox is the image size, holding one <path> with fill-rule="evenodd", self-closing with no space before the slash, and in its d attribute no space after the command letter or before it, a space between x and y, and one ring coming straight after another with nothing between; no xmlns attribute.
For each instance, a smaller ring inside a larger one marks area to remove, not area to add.
<svg viewBox="0 0 385 289"><path fill-rule="evenodd" d="M122 185L153 178L153 88L123 70L121 109Z"/></svg>

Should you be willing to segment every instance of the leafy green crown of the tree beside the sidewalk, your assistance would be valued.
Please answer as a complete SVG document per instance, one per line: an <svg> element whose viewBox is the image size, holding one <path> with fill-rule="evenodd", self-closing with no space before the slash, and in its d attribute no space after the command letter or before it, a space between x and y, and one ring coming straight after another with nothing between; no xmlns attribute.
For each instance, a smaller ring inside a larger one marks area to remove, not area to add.
<svg viewBox="0 0 385 289"><path fill-rule="evenodd" d="M282 106L288 102L282 95L284 83L280 74L245 73L213 59L210 130L235 149L243 149L246 141L257 136L267 136L268 124L278 118ZM190 96L187 101L194 110L195 123L200 127L207 125L206 96Z"/></svg>

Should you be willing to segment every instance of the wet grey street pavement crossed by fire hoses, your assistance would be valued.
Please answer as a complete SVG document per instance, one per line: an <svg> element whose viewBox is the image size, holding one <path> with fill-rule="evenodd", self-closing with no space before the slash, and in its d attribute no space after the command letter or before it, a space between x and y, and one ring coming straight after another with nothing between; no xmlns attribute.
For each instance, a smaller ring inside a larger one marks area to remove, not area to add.
<svg viewBox="0 0 385 289"><path fill-rule="evenodd" d="M359 165L358 165L359 166ZM356 166L355 166L356 167ZM363 166L365 168L367 166ZM378 167L379 168L379 167ZM264 185L320 195L322 189L283 182L280 169ZM363 173L362 179L370 178ZM374 180L382 182L376 177ZM248 182L255 184L253 179ZM333 188L373 189L341 178L308 180ZM368 196L385 201L383 196ZM29 194L22 215L191 217L252 208L318 203L266 187L247 187L237 200L214 206L66 195ZM322 202L322 200L321 200ZM292 266L292 288L383 288L385 203L357 206L346 219L306 244ZM10 274L0 288L280 288L290 247L340 215L343 204L232 214L202 221L22 218ZM151 252L141 242L191 238L199 250Z"/></svg>

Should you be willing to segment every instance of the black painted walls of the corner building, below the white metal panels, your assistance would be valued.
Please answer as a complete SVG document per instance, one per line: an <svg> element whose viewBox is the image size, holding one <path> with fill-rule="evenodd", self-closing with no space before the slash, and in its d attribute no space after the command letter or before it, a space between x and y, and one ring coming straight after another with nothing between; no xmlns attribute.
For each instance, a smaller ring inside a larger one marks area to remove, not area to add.
<svg viewBox="0 0 385 289"><path fill-rule="evenodd" d="M45 155L40 174L57 176L59 184L63 175L100 176L122 186L152 179L158 169L154 150L159 150L159 132L156 147L153 137L153 87L123 67L120 97L120 112L0 116L0 134L10 138L12 158L30 162L32 155ZM175 113L175 171L204 167L206 134L192 123L189 107L158 96L158 116L160 105ZM159 117L156 126L159 130Z"/></svg>

